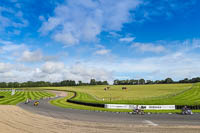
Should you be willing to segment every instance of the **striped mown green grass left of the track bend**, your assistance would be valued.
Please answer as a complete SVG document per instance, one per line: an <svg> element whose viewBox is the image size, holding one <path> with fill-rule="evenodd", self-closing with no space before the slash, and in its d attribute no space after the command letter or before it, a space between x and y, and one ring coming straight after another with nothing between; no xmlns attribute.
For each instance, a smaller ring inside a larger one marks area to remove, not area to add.
<svg viewBox="0 0 200 133"><path fill-rule="evenodd" d="M11 91L0 91L0 96L4 96L4 98L0 98L0 104L16 105L17 103L25 101L27 98L36 100L55 95L45 91L17 91L15 95L12 96Z"/></svg>

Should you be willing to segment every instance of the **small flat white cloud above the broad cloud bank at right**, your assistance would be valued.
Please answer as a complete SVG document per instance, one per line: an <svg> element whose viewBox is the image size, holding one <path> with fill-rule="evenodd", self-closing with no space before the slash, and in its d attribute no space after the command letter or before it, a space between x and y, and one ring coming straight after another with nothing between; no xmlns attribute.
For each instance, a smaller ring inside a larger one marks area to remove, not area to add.
<svg viewBox="0 0 200 133"><path fill-rule="evenodd" d="M165 47L162 45L155 45L153 43L133 43L132 48L136 48L141 52L153 52L153 53L160 53L165 51Z"/></svg>

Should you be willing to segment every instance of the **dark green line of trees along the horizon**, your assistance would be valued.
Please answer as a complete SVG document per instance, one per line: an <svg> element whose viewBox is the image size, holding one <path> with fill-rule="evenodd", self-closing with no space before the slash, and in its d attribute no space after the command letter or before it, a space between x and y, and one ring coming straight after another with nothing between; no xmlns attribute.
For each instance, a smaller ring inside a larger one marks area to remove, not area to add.
<svg viewBox="0 0 200 133"><path fill-rule="evenodd" d="M200 77L188 79L185 78L179 81L173 81L172 78L165 80L145 80L145 79L130 79L130 80L114 80L114 85L143 85L143 84L173 84L173 83L197 83L200 82ZM96 81L91 79L89 83L74 80L63 80L60 82L45 82L45 81L27 81L27 82L0 82L0 88L20 88L20 87L59 87L59 86L83 86L83 85L109 85L108 81Z"/></svg>

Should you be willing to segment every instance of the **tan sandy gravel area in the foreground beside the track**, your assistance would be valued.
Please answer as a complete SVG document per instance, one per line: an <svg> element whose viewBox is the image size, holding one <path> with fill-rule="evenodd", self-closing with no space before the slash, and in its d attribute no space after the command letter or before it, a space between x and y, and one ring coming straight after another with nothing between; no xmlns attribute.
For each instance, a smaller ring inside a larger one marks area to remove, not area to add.
<svg viewBox="0 0 200 133"><path fill-rule="evenodd" d="M199 133L198 126L160 127L133 124L91 123L61 120L25 111L17 106L0 106L0 132L2 133Z"/></svg>

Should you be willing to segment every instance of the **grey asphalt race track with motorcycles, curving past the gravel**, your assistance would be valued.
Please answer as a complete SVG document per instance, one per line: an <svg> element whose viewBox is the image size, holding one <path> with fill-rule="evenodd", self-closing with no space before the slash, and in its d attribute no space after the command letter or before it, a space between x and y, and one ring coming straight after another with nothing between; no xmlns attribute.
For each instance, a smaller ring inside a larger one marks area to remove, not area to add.
<svg viewBox="0 0 200 133"><path fill-rule="evenodd" d="M59 97L58 97L59 98ZM20 103L19 107L33 113L49 117L78 120L87 122L106 122L106 123L131 123L147 124L151 126L200 126L200 114L179 115L179 114L145 114L132 115L128 113L95 112L86 110L75 110L60 108L48 103L52 99L40 100L40 104L35 107L33 102L29 104Z"/></svg>

